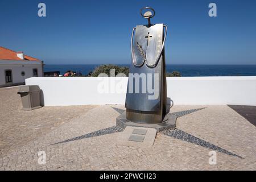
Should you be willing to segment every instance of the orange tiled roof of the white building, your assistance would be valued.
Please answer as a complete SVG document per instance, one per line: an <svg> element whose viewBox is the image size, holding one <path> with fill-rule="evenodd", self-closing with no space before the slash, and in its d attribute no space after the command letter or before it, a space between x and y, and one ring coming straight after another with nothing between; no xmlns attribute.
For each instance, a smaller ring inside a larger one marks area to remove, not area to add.
<svg viewBox="0 0 256 182"><path fill-rule="evenodd" d="M17 56L18 52L0 46L0 60L22 60ZM24 60L39 61L38 59L24 55Z"/></svg>

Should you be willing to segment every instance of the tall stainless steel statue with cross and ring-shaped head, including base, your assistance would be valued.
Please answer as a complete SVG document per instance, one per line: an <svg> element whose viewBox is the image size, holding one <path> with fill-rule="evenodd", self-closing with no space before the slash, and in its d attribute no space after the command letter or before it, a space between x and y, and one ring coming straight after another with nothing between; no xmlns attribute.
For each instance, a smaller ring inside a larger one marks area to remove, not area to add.
<svg viewBox="0 0 256 182"><path fill-rule="evenodd" d="M167 26L151 24L150 19L155 15L151 7L141 9L141 15L148 20L148 24L133 28L131 35L132 59L126 93L126 112L117 118L117 125L122 127L168 125L166 121L170 119L164 56Z"/></svg>

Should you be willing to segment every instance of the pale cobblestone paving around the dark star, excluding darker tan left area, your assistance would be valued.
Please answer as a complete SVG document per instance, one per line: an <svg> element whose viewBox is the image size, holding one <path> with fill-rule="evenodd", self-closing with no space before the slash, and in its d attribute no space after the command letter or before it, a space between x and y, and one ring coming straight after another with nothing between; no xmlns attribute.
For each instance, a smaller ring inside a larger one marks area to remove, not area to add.
<svg viewBox="0 0 256 182"><path fill-rule="evenodd" d="M255 170L256 130L230 107L174 106L171 112L205 109L177 119L177 128L225 148L217 152L217 165L210 165L209 148L158 133L152 148L118 146L123 133L61 142L115 125L121 105L94 107L79 118L56 127L17 150L1 155L1 170ZM39 126L40 127L40 126ZM46 165L38 164L38 151L46 151Z"/></svg>

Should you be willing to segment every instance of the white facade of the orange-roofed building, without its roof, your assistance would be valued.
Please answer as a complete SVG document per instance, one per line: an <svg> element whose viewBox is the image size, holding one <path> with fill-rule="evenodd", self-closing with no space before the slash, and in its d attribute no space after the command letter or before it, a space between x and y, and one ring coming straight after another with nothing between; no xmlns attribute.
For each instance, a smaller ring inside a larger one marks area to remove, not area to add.
<svg viewBox="0 0 256 182"><path fill-rule="evenodd" d="M42 64L39 61L11 61L0 60L0 85L5 85L5 70L11 69L13 73L13 83L25 82L26 78L33 76L33 69L38 69L38 76L43 76ZM25 72L25 76L21 75L21 72Z"/></svg>

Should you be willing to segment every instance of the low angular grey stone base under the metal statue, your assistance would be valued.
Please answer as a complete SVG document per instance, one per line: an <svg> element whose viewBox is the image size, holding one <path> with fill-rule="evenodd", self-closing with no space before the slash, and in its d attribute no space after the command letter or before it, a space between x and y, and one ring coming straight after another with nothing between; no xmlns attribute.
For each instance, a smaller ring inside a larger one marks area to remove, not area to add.
<svg viewBox="0 0 256 182"><path fill-rule="evenodd" d="M123 129L125 129L126 126L150 127L156 129L156 131L159 132L166 129L175 129L176 119L177 117L175 115L168 113L162 123L142 124L129 121L128 119L126 119L126 112L123 112L117 117L116 123L117 126L122 127Z"/></svg>

